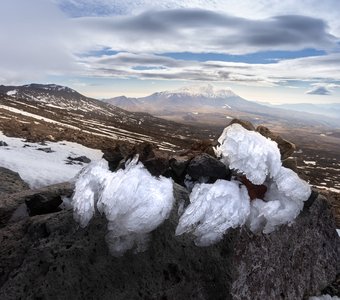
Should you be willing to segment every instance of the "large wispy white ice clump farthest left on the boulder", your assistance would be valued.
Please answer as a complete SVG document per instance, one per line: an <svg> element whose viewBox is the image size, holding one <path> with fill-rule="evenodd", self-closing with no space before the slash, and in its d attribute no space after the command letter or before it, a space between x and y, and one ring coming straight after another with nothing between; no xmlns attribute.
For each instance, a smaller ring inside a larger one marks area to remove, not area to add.
<svg viewBox="0 0 340 300"><path fill-rule="evenodd" d="M153 177L134 158L124 170L111 172L105 160L88 165L78 176L72 199L74 218L85 227L95 210L108 220L106 241L113 255L136 247L143 251L148 234L169 216L171 179Z"/></svg>

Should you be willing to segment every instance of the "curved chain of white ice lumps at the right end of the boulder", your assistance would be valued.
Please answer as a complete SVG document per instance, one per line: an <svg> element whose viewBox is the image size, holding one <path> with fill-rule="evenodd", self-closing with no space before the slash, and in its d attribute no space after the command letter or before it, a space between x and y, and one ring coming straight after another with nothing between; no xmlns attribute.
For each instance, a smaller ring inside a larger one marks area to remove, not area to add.
<svg viewBox="0 0 340 300"><path fill-rule="evenodd" d="M224 129L216 154L230 168L245 174L253 184L264 184L263 199L250 204L247 220L253 232L270 233L277 226L291 224L303 208L311 188L298 175L281 165L275 142L235 123Z"/></svg>

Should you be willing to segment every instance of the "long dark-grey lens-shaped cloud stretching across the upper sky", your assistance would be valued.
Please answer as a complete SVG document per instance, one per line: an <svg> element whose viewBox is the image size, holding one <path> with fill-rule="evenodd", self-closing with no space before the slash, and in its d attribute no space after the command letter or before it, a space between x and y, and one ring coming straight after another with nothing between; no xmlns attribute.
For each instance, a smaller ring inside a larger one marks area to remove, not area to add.
<svg viewBox="0 0 340 300"><path fill-rule="evenodd" d="M327 32L322 19L302 15L253 20L207 10L175 9L136 16L84 17L73 23L89 46L128 52L245 54L337 47L336 37Z"/></svg>

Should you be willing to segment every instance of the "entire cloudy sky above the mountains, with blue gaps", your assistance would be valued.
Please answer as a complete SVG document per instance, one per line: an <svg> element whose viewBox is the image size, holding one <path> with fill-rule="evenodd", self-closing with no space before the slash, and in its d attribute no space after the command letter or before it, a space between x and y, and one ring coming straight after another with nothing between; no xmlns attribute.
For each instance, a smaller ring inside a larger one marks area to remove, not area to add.
<svg viewBox="0 0 340 300"><path fill-rule="evenodd" d="M338 0L1 0L0 84L340 102Z"/></svg>

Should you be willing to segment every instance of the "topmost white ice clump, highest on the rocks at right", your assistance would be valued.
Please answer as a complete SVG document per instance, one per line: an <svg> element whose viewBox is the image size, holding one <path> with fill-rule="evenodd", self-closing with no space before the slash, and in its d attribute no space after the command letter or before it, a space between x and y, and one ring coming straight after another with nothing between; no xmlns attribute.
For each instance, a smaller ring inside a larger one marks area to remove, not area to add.
<svg viewBox="0 0 340 300"><path fill-rule="evenodd" d="M280 170L281 155L277 144L240 124L226 127L218 142L216 155L230 169L244 173L253 184L263 184L267 176L273 177Z"/></svg>

